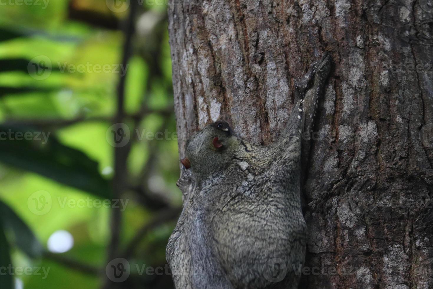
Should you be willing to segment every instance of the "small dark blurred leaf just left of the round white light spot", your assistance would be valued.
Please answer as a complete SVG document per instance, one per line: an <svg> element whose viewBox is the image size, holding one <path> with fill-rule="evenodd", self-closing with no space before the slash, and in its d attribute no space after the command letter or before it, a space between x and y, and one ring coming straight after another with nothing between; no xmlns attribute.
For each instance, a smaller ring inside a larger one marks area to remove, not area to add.
<svg viewBox="0 0 433 289"><path fill-rule="evenodd" d="M43 247L36 239L35 234L30 230L26 223L5 203L0 201L0 215L3 220L4 228L12 233L11 241L26 253L29 257L36 258L42 256Z"/></svg>

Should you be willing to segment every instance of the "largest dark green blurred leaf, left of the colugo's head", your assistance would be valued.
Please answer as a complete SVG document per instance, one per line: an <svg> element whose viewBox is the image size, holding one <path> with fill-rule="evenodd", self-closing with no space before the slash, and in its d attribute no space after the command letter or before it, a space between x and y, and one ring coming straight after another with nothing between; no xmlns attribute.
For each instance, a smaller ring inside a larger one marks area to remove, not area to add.
<svg viewBox="0 0 433 289"><path fill-rule="evenodd" d="M0 125L0 137L0 162L102 198L111 197L110 183L100 175L98 163L64 146L51 132Z"/></svg>

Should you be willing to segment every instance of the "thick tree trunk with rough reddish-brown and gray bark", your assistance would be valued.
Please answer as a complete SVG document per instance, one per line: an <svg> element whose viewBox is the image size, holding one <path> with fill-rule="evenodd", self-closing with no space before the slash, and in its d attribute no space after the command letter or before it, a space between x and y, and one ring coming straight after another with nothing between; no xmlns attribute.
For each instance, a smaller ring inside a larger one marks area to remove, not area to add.
<svg viewBox="0 0 433 289"><path fill-rule="evenodd" d="M433 288L432 13L427 0L171 0L181 156L217 119L271 143L292 78L332 55L304 180L306 288Z"/></svg>

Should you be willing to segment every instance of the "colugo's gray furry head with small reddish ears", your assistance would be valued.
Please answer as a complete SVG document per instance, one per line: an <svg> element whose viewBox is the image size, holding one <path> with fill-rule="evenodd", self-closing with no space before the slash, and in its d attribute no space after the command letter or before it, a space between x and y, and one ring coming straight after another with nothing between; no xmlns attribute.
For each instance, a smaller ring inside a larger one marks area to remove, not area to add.
<svg viewBox="0 0 433 289"><path fill-rule="evenodd" d="M209 174L231 159L236 137L229 124L217 121L187 140L186 157L181 160L194 174Z"/></svg>

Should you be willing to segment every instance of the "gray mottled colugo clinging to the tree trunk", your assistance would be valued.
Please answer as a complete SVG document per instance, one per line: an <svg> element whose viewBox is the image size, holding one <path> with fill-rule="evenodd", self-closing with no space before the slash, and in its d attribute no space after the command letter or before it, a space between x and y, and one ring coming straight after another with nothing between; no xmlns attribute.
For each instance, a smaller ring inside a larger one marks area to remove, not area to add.
<svg viewBox="0 0 433 289"><path fill-rule="evenodd" d="M313 126L329 70L325 55L296 82L297 104L271 145L215 124L188 140L191 168L182 168L178 181L184 205L167 246L176 288L297 288L294 268L304 263L307 242L300 178L308 147L301 134ZM213 146L216 136L223 149Z"/></svg>

